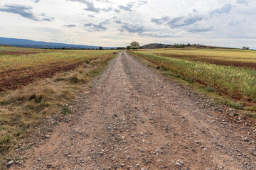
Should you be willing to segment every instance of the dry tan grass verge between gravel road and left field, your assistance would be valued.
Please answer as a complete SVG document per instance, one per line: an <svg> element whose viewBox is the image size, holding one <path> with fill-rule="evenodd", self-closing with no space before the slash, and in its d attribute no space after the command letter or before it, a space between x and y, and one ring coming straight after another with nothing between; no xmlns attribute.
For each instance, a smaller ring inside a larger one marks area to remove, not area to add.
<svg viewBox="0 0 256 170"><path fill-rule="evenodd" d="M114 53L84 62L70 72L35 81L0 96L0 161L12 157L18 144L33 136L33 131L52 115L68 114L70 99L83 84L102 72Z"/></svg>

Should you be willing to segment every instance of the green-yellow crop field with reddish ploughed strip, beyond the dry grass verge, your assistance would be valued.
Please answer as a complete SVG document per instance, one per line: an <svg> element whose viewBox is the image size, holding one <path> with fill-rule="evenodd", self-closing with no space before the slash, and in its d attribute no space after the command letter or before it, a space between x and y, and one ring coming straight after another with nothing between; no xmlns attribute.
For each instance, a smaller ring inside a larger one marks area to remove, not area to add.
<svg viewBox="0 0 256 170"><path fill-rule="evenodd" d="M112 52L114 51L0 47L0 91L16 89L35 79L74 69L82 62L90 62Z"/></svg>

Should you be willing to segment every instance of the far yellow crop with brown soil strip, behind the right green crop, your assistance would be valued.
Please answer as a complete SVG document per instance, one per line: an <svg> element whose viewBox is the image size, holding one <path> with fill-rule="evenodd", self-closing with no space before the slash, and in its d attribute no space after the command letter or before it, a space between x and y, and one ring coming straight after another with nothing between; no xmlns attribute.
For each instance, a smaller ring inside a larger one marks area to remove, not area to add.
<svg viewBox="0 0 256 170"><path fill-rule="evenodd" d="M207 62L236 67L256 68L256 52L254 50L235 49L171 49L143 50L144 54L158 55L191 61Z"/></svg>

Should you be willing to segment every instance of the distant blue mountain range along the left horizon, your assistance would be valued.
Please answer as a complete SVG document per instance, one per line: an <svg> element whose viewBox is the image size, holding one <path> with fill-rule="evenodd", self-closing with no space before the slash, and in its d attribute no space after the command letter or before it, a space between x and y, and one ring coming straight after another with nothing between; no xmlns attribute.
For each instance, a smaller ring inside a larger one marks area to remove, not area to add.
<svg viewBox="0 0 256 170"><path fill-rule="evenodd" d="M92 45L72 45L56 42L43 42L43 41L33 41L26 39L17 38L3 38L0 37L0 45L11 45L15 47L34 47L34 48L74 48L74 49L97 49L99 46ZM111 49L117 47L103 47L103 49Z"/></svg>

